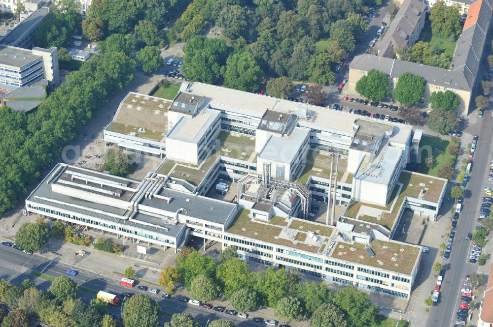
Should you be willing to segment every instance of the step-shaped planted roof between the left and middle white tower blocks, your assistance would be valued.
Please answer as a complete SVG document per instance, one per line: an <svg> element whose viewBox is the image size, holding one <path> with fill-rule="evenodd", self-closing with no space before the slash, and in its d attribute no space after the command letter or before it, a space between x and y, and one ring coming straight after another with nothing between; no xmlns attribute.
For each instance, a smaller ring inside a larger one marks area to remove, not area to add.
<svg viewBox="0 0 493 327"><path fill-rule="evenodd" d="M159 169L159 174L184 179L192 185L198 186L219 156L246 162L256 161L255 138L238 133L221 132L218 141L218 145L211 151L211 155L200 165L166 159Z"/></svg>

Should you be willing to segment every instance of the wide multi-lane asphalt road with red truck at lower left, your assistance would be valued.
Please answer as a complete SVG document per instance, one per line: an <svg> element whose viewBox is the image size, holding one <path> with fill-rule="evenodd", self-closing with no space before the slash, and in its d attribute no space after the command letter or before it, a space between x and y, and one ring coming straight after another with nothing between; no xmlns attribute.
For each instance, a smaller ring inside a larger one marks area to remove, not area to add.
<svg viewBox="0 0 493 327"><path fill-rule="evenodd" d="M15 250L13 247L0 247L0 278L9 280L13 284L20 284L25 278L30 277L34 279L36 287L47 290L50 286L50 282L42 278L33 278L30 276L32 270L46 274L48 276L57 277L60 275L67 275L67 269L72 269L69 265L65 265L57 260L49 260L40 255L27 255L19 250ZM171 320L171 315L174 313L185 312L194 317L195 320L201 323L207 323L208 320L227 319L233 321L238 327L258 327L266 326L265 323L256 324L250 321L255 317L255 314L250 314L247 320L238 318L238 316L230 316L226 313L215 312L206 308L197 306L189 306L186 303L176 300L176 296L169 299L161 297L161 294L153 295L146 291L138 290L137 287L130 289L128 287L120 286L119 280L107 278L105 276L98 275L94 272L83 270L79 268L73 268L77 270L79 274L77 276L69 276L77 285L84 288L91 289L93 291L104 290L112 294L120 295L122 292L130 292L134 294L145 294L154 298L160 305L163 312L166 313L161 318L160 326L165 322ZM89 304L89 301L94 298L93 294L89 294L83 291L79 291L78 296ZM227 303L221 303L220 305L226 306ZM229 309L232 309L229 307ZM108 305L107 311L117 317L120 317L121 307L115 307ZM265 321L265 318L264 318ZM290 324L292 327L301 326L299 324Z"/></svg>

